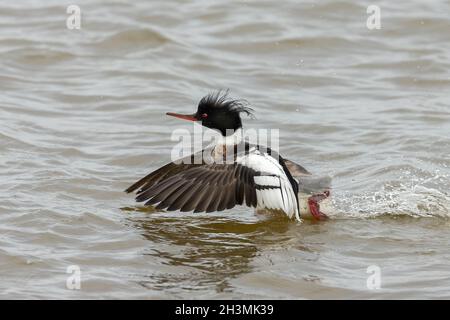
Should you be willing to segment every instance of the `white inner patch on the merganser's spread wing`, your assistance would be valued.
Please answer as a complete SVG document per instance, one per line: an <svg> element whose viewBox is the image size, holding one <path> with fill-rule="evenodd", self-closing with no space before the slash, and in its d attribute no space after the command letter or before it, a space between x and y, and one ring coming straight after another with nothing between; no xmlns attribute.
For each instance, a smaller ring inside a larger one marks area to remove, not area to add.
<svg viewBox="0 0 450 320"><path fill-rule="evenodd" d="M295 215L300 221L294 190L275 158L255 149L245 156L237 157L236 162L261 172L254 177L257 209L281 210L290 218Z"/></svg>

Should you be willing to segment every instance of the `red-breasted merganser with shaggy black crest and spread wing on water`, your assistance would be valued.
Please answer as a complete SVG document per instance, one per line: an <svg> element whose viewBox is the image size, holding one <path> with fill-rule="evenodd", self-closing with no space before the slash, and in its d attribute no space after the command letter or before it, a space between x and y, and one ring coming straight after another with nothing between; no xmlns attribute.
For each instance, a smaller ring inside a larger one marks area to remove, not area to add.
<svg viewBox="0 0 450 320"><path fill-rule="evenodd" d="M221 92L203 97L194 114L168 112L217 130L222 139L153 171L126 192L138 190L136 201L169 211L213 212L247 205L257 211L283 212L298 221L301 214L326 219L319 202L329 196L327 179L310 178L302 166L240 138L240 115L252 112L245 101Z"/></svg>

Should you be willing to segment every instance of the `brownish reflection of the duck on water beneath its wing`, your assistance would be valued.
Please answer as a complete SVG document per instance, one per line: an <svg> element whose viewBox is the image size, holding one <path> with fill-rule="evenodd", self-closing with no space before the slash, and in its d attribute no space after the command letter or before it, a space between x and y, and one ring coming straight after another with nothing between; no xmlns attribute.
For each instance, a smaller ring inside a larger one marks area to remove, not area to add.
<svg viewBox="0 0 450 320"><path fill-rule="evenodd" d="M123 208L130 212L132 208ZM292 221L279 215L257 217L255 221L230 220L226 216L152 214L153 209L136 208L149 216L127 218L152 244L146 255L168 266L189 267L184 275L151 276L140 283L151 289L203 289L214 286L226 291L230 278L252 271L260 251L283 247L291 237Z"/></svg>

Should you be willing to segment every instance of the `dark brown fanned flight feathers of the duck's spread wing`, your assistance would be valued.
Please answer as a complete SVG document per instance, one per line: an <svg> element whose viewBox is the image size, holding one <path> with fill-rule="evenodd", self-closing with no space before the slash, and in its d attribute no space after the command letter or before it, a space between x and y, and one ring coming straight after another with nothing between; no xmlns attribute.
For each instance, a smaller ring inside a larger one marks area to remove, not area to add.
<svg viewBox="0 0 450 320"><path fill-rule="evenodd" d="M256 207L256 174L240 164L169 163L126 191L140 188L136 201L170 211L222 211L244 202Z"/></svg>

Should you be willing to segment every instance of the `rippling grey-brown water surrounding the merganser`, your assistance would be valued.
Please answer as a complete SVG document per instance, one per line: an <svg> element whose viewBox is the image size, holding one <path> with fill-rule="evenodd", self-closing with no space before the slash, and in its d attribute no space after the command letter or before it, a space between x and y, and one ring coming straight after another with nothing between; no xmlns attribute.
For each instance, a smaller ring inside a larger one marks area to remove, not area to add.
<svg viewBox="0 0 450 320"><path fill-rule="evenodd" d="M380 30L347 0L76 1L69 30L72 3L0 4L1 298L450 298L448 1L378 1ZM122 192L218 88L333 176L332 219Z"/></svg>

